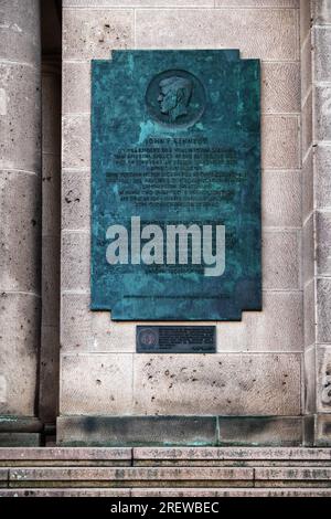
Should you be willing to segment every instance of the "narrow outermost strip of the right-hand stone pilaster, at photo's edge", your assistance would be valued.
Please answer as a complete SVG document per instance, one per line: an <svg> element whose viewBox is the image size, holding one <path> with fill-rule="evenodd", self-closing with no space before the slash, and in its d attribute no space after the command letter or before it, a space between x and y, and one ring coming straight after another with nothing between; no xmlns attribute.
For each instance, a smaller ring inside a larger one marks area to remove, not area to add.
<svg viewBox="0 0 331 519"><path fill-rule="evenodd" d="M331 2L312 0L316 444L331 445Z"/></svg>

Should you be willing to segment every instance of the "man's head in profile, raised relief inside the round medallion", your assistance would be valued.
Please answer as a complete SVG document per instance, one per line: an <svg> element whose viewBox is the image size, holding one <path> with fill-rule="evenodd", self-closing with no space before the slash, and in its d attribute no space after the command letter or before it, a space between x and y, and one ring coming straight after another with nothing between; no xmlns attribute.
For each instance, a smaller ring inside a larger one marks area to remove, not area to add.
<svg viewBox="0 0 331 519"><path fill-rule="evenodd" d="M172 123L182 115L188 114L188 106L192 96L192 82L185 77L171 76L160 81L160 110L168 114Z"/></svg>

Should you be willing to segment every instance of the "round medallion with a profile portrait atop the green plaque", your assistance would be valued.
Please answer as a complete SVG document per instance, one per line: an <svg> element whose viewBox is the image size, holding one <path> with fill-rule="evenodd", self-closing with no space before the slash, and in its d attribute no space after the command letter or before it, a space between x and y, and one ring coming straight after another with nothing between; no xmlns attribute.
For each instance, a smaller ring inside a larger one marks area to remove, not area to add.
<svg viewBox="0 0 331 519"><path fill-rule="evenodd" d="M149 83L146 105L150 116L160 125L174 129L192 126L205 108L204 87L190 72L164 71Z"/></svg>

